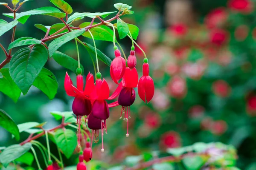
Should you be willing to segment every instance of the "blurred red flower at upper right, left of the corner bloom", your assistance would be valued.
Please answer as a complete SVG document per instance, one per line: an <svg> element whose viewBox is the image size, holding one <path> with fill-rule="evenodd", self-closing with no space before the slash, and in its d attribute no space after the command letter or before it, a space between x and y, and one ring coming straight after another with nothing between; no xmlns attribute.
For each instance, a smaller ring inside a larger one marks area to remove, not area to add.
<svg viewBox="0 0 256 170"><path fill-rule="evenodd" d="M208 28L217 28L222 26L227 20L228 14L225 8L216 8L210 11L205 17L204 22Z"/></svg>

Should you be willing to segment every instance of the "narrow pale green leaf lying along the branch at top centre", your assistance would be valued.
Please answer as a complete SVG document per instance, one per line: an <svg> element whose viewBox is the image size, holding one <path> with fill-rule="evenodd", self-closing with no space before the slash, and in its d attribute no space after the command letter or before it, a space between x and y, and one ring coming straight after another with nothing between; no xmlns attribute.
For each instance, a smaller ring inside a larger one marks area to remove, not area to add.
<svg viewBox="0 0 256 170"><path fill-rule="evenodd" d="M95 18L95 17L108 17L108 15L115 13L116 11L113 12L96 12L96 13L90 13L90 12L83 12L83 13L78 13L75 12L73 15L71 15L68 20L67 23L71 23L73 20L81 20L84 17L90 17L90 18Z"/></svg>

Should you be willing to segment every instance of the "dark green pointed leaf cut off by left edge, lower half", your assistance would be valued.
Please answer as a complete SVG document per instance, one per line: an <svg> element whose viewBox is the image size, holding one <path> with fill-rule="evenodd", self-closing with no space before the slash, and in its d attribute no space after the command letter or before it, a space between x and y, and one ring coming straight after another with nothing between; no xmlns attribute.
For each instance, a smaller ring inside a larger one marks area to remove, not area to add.
<svg viewBox="0 0 256 170"><path fill-rule="evenodd" d="M12 120L12 118L3 110L0 109L0 126L5 128L8 132L12 133L15 136L15 139L20 140L20 132Z"/></svg>

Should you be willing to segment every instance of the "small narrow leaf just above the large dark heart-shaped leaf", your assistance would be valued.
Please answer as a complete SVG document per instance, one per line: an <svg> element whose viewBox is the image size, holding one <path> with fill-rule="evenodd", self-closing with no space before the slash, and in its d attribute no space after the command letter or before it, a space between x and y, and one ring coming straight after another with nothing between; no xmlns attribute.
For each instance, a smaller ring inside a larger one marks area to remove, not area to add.
<svg viewBox="0 0 256 170"><path fill-rule="evenodd" d="M41 44L41 42L42 42L41 40L37 40L32 37L21 37L15 40L14 42L12 42L9 45L8 50L11 48L22 46L22 45Z"/></svg>

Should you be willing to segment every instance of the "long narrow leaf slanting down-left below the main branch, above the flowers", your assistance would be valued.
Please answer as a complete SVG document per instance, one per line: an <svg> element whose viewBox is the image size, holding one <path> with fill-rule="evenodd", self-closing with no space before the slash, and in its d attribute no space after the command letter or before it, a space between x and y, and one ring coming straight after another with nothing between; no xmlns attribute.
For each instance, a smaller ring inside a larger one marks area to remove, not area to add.
<svg viewBox="0 0 256 170"><path fill-rule="evenodd" d="M49 57L52 56L52 54L58 50L58 48L60 48L63 44L65 44L66 42L69 42L70 40L73 40L74 38L80 36L81 34L83 34L85 31L84 28L82 29L78 29L72 32L69 32L67 34L64 34L61 37L58 37L57 39L53 40L50 44L49 44Z"/></svg>

